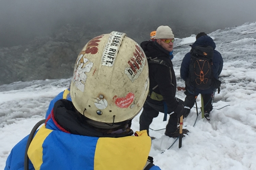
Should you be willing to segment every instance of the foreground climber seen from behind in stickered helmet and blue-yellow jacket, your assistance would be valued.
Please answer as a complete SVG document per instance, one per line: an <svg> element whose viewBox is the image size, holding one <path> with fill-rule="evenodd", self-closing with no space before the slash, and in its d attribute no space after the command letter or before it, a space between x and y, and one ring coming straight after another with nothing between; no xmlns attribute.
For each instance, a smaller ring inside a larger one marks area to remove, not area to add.
<svg viewBox="0 0 256 170"><path fill-rule="evenodd" d="M113 31L81 50L70 85L72 102L55 102L25 153L28 136L11 151L5 170L160 170L148 156L146 130L131 120L148 94L148 64L140 46Z"/></svg>

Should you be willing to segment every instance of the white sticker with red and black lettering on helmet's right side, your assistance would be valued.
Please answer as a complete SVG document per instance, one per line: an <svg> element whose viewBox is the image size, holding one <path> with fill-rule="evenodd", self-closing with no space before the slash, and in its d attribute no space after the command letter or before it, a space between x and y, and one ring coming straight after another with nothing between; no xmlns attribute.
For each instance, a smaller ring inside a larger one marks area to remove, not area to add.
<svg viewBox="0 0 256 170"><path fill-rule="evenodd" d="M146 60L143 49L139 45L135 45L135 48L134 56L128 61L130 67L125 68L125 74L131 82L134 82L140 76Z"/></svg>

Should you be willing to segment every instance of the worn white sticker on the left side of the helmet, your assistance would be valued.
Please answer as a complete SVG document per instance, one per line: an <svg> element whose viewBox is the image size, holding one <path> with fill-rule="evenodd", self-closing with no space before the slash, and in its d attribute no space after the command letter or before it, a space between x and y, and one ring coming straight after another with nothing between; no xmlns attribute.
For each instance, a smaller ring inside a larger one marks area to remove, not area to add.
<svg viewBox="0 0 256 170"><path fill-rule="evenodd" d="M73 81L76 85L76 87L84 92L84 84L86 82L87 79L87 74L85 73L89 73L90 70L93 67L93 62L89 62L89 60L87 58L82 58L83 54L80 54L79 59L76 62L75 65L75 71L74 71L74 78ZM87 63L87 64L85 64Z"/></svg>

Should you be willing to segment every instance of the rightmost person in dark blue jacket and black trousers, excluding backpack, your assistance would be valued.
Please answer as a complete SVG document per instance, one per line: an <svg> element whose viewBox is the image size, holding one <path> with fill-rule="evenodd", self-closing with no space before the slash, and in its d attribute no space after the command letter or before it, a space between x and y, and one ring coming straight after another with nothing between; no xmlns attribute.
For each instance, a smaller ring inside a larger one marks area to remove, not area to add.
<svg viewBox="0 0 256 170"><path fill-rule="evenodd" d="M212 46L214 49L213 52L213 59L212 59L212 72L213 76L218 79L219 75L221 74L222 68L223 68L223 58L221 54L215 50L216 45L215 42L212 40L211 37L207 36L204 32L201 32L197 34L196 41L194 42L193 46ZM185 108L186 108L186 116L188 116L190 109L194 106L196 97L198 94L201 94L204 99L204 116L208 119L209 113L212 111L212 96L213 93L216 91L216 88L209 87L208 89L198 89L194 88L193 85L189 85L188 77L189 77L189 64L191 60L191 54L190 52L185 55L185 57L182 60L181 66L180 66L180 77L186 82L186 98L185 98Z"/></svg>

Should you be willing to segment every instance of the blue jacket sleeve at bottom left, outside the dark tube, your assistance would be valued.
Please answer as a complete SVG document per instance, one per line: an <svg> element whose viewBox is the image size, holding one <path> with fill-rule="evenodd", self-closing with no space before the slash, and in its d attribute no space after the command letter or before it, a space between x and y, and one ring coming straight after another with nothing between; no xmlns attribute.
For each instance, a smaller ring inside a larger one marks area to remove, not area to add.
<svg viewBox="0 0 256 170"><path fill-rule="evenodd" d="M28 138L29 135L12 148L12 151L6 160L6 167L4 170L24 170L25 150ZM35 170L30 160L29 170Z"/></svg>

